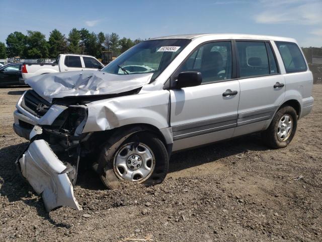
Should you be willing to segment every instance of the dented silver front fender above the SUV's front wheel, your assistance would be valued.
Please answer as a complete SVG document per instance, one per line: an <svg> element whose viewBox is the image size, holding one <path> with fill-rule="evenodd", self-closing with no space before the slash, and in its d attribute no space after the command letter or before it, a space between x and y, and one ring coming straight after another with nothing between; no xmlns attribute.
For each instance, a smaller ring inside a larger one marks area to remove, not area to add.
<svg viewBox="0 0 322 242"><path fill-rule="evenodd" d="M87 104L88 118L83 133L111 130L130 124L169 127L169 91L139 93Z"/></svg>

